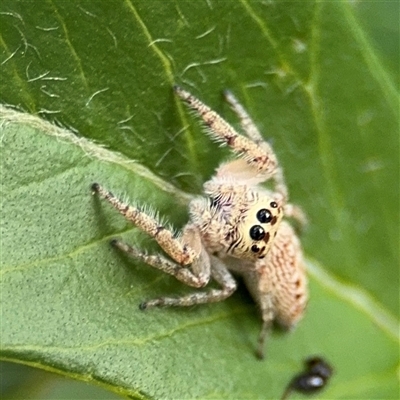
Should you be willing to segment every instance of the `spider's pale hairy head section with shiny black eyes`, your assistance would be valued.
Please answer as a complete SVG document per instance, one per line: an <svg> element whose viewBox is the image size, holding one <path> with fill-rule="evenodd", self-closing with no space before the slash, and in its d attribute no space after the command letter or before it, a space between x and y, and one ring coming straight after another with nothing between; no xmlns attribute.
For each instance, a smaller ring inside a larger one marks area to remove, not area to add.
<svg viewBox="0 0 400 400"><path fill-rule="evenodd" d="M282 220L282 206L268 192L244 183L232 186L229 196L219 193L210 199L203 208L195 200L191 208L206 247L241 259L264 258Z"/></svg>

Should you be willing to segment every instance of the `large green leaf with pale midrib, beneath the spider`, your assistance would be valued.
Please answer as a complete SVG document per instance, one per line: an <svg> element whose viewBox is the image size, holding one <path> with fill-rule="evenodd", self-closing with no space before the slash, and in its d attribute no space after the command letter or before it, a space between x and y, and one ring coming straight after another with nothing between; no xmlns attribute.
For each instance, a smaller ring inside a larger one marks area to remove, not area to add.
<svg viewBox="0 0 400 400"><path fill-rule="evenodd" d="M0 97L13 106L0 108L3 359L132 398L264 399L321 354L335 368L325 398L397 397L397 78L353 7L2 2ZM244 289L221 304L139 311L190 289L111 249L121 236L157 251L90 194L98 181L185 223L227 152L174 82L236 125L221 97L230 88L309 216L307 315L271 335L264 362Z"/></svg>

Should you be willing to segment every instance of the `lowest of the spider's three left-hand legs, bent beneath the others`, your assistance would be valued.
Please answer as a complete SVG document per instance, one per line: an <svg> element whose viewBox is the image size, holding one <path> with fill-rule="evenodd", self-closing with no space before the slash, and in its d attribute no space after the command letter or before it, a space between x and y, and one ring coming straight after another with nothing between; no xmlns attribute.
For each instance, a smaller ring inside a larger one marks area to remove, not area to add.
<svg viewBox="0 0 400 400"><path fill-rule="evenodd" d="M159 297L141 304L140 308L150 307L189 307L196 304L216 303L223 301L236 290L237 284L224 263L214 256L211 259L211 276L221 285L221 289L207 292L195 292L181 297Z"/></svg>

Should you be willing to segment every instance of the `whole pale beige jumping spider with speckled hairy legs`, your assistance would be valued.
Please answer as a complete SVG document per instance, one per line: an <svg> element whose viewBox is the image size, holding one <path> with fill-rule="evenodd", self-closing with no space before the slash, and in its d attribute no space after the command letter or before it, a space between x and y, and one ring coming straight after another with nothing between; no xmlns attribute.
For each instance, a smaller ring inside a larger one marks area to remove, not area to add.
<svg viewBox="0 0 400 400"><path fill-rule="evenodd" d="M301 246L283 216L301 224L305 217L300 208L288 203L276 155L230 92L225 93L226 100L238 115L246 136L189 92L179 86L174 90L202 118L214 139L241 156L221 164L204 184L204 197L190 202L190 221L182 234L176 237L153 216L121 201L98 183L92 185L92 190L153 237L169 258L148 255L121 240L112 241L115 247L186 285L203 288L213 279L221 286L177 298L148 300L140 309L225 300L237 288L232 271L243 277L261 309L263 324L257 355L263 358L264 341L272 322L293 328L305 310L307 280ZM260 186L268 180L272 181L273 190Z"/></svg>

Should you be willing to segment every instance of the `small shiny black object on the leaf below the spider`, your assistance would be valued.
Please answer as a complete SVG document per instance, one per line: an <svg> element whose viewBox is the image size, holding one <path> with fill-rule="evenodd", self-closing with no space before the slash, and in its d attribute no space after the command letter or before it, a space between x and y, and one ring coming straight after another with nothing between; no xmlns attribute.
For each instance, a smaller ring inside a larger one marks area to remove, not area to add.
<svg viewBox="0 0 400 400"><path fill-rule="evenodd" d="M281 400L286 400L293 391L310 394L318 392L326 386L333 374L332 367L321 357L309 357L304 365L306 370L290 381Z"/></svg>

